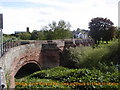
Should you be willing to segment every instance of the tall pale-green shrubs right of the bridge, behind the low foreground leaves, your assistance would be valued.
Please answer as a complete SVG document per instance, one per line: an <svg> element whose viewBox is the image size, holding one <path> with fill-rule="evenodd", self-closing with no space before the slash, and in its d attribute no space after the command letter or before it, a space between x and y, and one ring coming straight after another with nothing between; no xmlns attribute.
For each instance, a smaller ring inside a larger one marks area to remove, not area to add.
<svg viewBox="0 0 120 90"><path fill-rule="evenodd" d="M119 64L120 42L111 41L109 44L101 44L96 48L76 47L66 49L63 52L61 64L69 68L99 69L103 72L114 72Z"/></svg>

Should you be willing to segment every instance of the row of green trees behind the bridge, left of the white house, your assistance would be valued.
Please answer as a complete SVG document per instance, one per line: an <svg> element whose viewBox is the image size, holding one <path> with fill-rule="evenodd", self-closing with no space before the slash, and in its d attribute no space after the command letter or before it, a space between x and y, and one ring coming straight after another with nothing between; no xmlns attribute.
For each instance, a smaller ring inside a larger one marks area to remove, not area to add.
<svg viewBox="0 0 120 90"><path fill-rule="evenodd" d="M24 32L16 34L17 37L23 40L55 40L55 39L68 39L72 38L72 32L70 31L70 23L60 20L58 23L53 21L52 23L44 26L41 30L33 30L32 33Z"/></svg>

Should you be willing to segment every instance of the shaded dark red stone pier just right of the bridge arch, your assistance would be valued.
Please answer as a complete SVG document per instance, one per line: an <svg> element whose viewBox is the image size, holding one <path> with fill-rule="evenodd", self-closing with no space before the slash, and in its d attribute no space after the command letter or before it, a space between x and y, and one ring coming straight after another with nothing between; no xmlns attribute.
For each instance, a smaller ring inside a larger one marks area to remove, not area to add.
<svg viewBox="0 0 120 90"><path fill-rule="evenodd" d="M53 68L60 65L60 49L56 43L42 44L41 49L43 69Z"/></svg>

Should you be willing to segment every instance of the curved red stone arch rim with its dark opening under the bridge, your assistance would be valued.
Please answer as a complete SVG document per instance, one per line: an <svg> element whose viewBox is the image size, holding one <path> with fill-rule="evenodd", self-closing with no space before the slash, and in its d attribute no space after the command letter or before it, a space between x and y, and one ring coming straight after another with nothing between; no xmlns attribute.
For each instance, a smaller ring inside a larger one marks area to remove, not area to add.
<svg viewBox="0 0 120 90"><path fill-rule="evenodd" d="M41 69L40 64L35 60L24 61L23 64L21 64L19 66L18 65L16 66L15 70L13 70L10 73L10 88L15 87L15 77L16 78L21 78L21 77L24 77L26 75L26 74L23 74L23 76L20 75L20 73L22 72L21 69L22 70L23 69L29 69L30 72L28 72L27 75ZM36 69L35 70L32 69L32 71L31 71L30 66L34 66L33 68L36 68ZM25 71L27 71L27 70L25 70Z"/></svg>

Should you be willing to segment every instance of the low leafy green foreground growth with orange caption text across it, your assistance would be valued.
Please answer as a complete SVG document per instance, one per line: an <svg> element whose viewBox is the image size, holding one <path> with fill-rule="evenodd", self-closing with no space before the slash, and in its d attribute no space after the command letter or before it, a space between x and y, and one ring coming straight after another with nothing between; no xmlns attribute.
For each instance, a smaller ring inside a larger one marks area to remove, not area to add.
<svg viewBox="0 0 120 90"><path fill-rule="evenodd" d="M56 67L35 72L26 78L16 80L16 88L117 89L119 83L117 74L118 72L102 73L100 70L96 69L68 69Z"/></svg>

